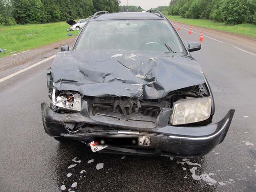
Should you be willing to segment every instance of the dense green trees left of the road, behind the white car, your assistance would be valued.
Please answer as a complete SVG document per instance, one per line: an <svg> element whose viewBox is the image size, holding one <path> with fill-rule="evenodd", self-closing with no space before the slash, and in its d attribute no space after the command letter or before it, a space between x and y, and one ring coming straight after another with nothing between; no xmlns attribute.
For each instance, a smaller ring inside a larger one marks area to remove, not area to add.
<svg viewBox="0 0 256 192"><path fill-rule="evenodd" d="M0 25L39 24L119 12L119 0L0 0Z"/></svg>

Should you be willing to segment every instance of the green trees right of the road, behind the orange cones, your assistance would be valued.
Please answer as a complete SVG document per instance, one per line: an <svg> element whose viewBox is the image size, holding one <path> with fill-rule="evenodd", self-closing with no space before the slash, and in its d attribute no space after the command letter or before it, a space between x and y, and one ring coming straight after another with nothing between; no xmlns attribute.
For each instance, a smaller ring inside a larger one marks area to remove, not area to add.
<svg viewBox="0 0 256 192"><path fill-rule="evenodd" d="M229 25L256 24L256 0L171 0L168 15L212 19Z"/></svg>

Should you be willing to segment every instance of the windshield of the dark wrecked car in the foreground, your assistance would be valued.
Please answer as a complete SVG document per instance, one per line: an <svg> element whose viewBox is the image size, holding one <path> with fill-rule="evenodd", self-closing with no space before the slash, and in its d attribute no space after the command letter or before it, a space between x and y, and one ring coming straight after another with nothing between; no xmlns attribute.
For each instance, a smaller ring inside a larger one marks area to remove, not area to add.
<svg viewBox="0 0 256 192"><path fill-rule="evenodd" d="M75 50L116 49L184 53L180 38L168 21L91 21L80 34Z"/></svg>

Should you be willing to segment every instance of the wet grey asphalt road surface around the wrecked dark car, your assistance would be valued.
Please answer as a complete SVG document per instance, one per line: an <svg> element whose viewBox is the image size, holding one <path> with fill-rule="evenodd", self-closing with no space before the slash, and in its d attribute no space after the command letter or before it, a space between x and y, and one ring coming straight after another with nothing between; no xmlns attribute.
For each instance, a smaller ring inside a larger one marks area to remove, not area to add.
<svg viewBox="0 0 256 192"><path fill-rule="evenodd" d="M179 33L185 42L202 43L192 55L211 85L214 120L236 110L223 143L191 160L124 157L93 153L80 142L61 144L45 134L41 120L41 102L50 103L50 60L0 83L0 191L255 191L256 56L207 37L199 41L194 32L200 28L192 34L184 28Z"/></svg>

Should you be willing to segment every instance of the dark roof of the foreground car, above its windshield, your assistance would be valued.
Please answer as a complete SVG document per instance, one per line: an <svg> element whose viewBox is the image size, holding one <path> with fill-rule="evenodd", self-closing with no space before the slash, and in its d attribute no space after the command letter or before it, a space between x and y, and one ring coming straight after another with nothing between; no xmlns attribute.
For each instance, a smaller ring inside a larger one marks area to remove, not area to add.
<svg viewBox="0 0 256 192"><path fill-rule="evenodd" d="M167 20L166 18L160 17L157 13L147 12L119 12L119 13L106 13L97 15L90 21L102 21L102 20L122 20L122 19L159 19Z"/></svg>

